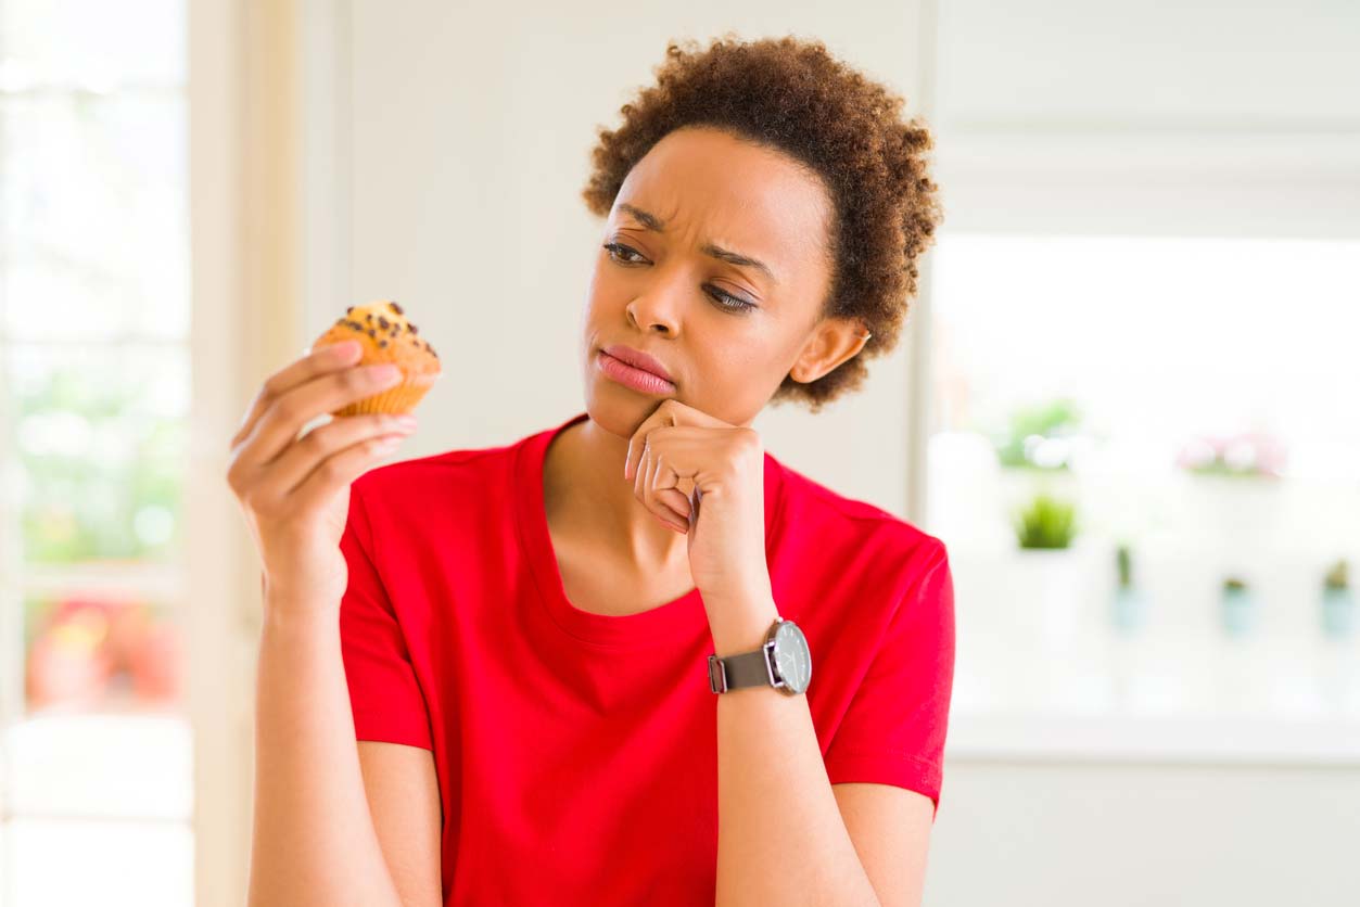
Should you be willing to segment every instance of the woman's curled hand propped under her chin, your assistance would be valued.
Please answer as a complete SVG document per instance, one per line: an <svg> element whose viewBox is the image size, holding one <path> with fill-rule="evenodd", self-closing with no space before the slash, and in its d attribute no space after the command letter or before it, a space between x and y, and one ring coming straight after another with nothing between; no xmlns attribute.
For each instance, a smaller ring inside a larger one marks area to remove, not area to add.
<svg viewBox="0 0 1360 907"><path fill-rule="evenodd" d="M764 443L753 428L664 400L628 441L623 476L647 510L688 534L704 598L770 596Z"/></svg>

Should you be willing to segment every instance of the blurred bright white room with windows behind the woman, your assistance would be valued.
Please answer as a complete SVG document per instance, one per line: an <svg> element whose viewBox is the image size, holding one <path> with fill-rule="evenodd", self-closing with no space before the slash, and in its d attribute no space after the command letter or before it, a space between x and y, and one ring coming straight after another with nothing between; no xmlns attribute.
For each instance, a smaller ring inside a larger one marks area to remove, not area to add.
<svg viewBox="0 0 1360 907"><path fill-rule="evenodd" d="M579 411L594 129L728 29L937 136L903 343L755 426L949 547L926 903L1355 903L1341 0L0 0L0 903L243 903L249 400L394 298L447 373L403 456Z"/></svg>

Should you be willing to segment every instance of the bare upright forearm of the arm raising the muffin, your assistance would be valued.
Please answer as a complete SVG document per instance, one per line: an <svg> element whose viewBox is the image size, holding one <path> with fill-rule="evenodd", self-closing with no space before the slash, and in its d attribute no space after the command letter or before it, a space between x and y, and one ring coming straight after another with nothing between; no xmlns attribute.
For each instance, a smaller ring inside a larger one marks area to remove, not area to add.
<svg viewBox="0 0 1360 907"><path fill-rule="evenodd" d="M256 688L250 907L398 907L369 813L339 605L265 597Z"/></svg>

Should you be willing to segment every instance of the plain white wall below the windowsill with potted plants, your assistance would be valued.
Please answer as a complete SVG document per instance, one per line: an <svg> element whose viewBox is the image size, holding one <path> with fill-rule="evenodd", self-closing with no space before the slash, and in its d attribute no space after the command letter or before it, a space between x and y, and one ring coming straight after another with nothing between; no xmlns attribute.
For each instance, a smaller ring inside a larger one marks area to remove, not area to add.
<svg viewBox="0 0 1360 907"><path fill-rule="evenodd" d="M1353 904L1360 771L966 761L930 907Z"/></svg>

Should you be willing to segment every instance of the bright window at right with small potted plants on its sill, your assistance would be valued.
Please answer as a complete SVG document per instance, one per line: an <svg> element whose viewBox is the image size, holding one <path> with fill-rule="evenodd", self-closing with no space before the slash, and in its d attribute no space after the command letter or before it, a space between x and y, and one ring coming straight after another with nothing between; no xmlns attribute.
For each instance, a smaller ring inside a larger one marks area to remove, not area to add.
<svg viewBox="0 0 1360 907"><path fill-rule="evenodd" d="M1360 714L1360 242L944 235L960 708Z"/></svg>

